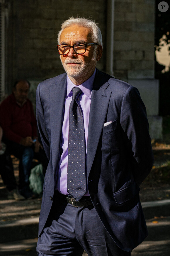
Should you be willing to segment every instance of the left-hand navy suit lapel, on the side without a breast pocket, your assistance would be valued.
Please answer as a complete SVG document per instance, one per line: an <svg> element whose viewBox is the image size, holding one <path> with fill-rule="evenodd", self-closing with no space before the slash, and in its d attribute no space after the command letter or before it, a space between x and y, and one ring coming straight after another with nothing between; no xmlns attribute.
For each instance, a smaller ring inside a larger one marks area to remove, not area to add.
<svg viewBox="0 0 170 256"><path fill-rule="evenodd" d="M51 148L52 165L55 172L60 159L60 139L62 131L62 118L67 88L67 74L64 78L50 88L50 120L51 120Z"/></svg>

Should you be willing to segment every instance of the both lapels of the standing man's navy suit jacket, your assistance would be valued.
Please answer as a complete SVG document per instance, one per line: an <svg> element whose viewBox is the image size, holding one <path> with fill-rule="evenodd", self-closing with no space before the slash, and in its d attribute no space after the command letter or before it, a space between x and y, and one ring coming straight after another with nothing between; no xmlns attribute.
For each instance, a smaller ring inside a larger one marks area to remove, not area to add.
<svg viewBox="0 0 170 256"><path fill-rule="evenodd" d="M88 128L87 142L87 177L91 170L93 160L96 154L98 142L103 129L107 114L108 104L111 92L106 90L109 83L103 78L96 69L96 79L94 81ZM65 104L65 93L67 89L67 74L61 81L50 88L50 120L51 120L51 141L52 164L55 172L60 159L60 140L62 132L62 119ZM54 139L55 138L55 139Z"/></svg>

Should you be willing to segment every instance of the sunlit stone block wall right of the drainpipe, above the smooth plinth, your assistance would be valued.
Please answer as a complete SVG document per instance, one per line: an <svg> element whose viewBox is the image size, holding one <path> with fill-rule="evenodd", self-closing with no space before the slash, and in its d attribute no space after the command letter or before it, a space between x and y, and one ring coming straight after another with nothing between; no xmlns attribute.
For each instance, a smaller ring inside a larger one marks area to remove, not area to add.
<svg viewBox="0 0 170 256"><path fill-rule="evenodd" d="M154 78L154 19L152 0L115 0L115 77Z"/></svg>

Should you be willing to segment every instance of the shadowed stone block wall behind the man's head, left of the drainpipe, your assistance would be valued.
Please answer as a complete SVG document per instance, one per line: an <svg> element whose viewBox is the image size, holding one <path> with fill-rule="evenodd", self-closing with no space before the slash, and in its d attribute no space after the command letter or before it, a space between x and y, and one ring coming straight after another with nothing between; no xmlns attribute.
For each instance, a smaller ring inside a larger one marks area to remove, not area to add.
<svg viewBox="0 0 170 256"><path fill-rule="evenodd" d="M89 17L105 41L106 2L102 0L13 0L13 78L44 80L64 72L57 52L57 32L69 17ZM105 59L101 59L103 69Z"/></svg>

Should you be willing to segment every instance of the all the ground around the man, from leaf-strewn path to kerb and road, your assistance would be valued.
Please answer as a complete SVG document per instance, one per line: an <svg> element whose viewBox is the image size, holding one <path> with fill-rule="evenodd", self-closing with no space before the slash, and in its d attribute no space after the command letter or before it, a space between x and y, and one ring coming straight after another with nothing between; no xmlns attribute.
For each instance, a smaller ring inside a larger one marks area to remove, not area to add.
<svg viewBox="0 0 170 256"><path fill-rule="evenodd" d="M155 151L155 166L169 164L170 149ZM18 179L17 160L14 160ZM170 185L169 179L155 182L148 178L141 186L140 198L147 219L149 236L135 248L132 256L169 256L170 252ZM157 174L157 173L156 173ZM167 176L169 177L169 176ZM41 198L15 201L7 199L7 190L0 179L0 256L37 256L36 243ZM83 256L87 256L84 252ZM100 256L100 255L99 255Z"/></svg>

